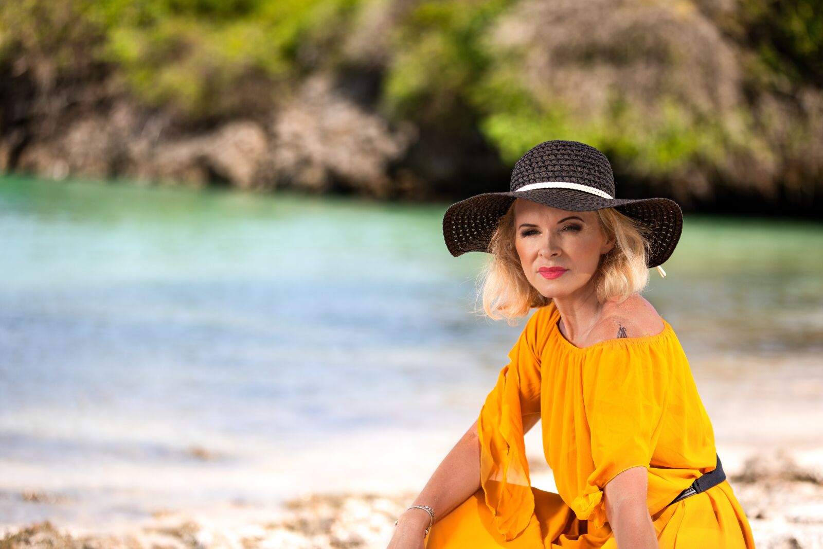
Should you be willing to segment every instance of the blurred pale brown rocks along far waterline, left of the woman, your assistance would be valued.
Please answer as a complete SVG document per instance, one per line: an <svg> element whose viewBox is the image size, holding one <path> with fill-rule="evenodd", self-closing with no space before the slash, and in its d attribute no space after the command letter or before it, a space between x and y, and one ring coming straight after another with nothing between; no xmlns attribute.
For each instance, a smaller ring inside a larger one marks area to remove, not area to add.
<svg viewBox="0 0 823 549"><path fill-rule="evenodd" d="M336 90L329 74L307 78L267 116L230 119L199 132L181 132L170 114L126 98L58 125L35 140L21 134L17 143L14 131L0 139L0 171L376 198L412 198L424 190L411 171L391 169L416 137L412 124L390 127Z"/></svg>

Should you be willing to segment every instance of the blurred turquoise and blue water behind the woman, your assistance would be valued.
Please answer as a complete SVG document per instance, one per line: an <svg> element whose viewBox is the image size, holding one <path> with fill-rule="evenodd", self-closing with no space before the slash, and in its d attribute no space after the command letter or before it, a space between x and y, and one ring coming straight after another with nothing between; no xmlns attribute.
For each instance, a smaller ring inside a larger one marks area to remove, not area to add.
<svg viewBox="0 0 823 549"><path fill-rule="evenodd" d="M448 253L447 206L0 179L0 467L19 475L0 490L49 472L83 500L77 470L110 495L115 466L259 472L350 435L464 430L520 328L468 312L485 255ZM645 295L690 360L823 351L823 226L686 216L663 267Z"/></svg>

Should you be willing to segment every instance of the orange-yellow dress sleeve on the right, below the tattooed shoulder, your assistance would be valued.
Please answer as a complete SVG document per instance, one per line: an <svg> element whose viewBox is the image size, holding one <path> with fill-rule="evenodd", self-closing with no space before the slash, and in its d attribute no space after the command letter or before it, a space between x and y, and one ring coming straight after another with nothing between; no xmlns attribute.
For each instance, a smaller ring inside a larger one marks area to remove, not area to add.
<svg viewBox="0 0 823 549"><path fill-rule="evenodd" d="M607 522L603 489L626 469L647 470L661 434L671 357L636 339L597 349L584 362L584 410L593 472L571 505L578 519Z"/></svg>

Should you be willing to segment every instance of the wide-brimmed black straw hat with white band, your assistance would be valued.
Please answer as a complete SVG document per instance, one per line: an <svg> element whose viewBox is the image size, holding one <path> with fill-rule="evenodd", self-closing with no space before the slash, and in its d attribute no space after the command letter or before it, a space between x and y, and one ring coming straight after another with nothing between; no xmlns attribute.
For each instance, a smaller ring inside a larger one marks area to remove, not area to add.
<svg viewBox="0 0 823 549"><path fill-rule="evenodd" d="M614 174L602 152L585 143L556 140L532 147L517 161L508 193L477 194L449 206L443 216L449 252L454 257L466 252L488 253L500 217L517 198L572 212L613 207L649 226L649 268L665 263L683 231L683 212L677 202L615 198Z"/></svg>

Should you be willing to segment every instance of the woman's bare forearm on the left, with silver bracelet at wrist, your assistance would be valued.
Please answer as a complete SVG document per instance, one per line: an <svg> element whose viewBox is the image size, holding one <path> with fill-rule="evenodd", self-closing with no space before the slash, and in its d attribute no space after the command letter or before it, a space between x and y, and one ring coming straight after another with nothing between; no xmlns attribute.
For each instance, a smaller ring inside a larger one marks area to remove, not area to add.
<svg viewBox="0 0 823 549"><path fill-rule="evenodd" d="M429 505L435 511L435 522L449 514L480 489L480 440L477 421L446 454L429 482L410 505ZM407 509L398 519L398 526L428 528L430 516L423 509Z"/></svg>

